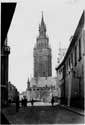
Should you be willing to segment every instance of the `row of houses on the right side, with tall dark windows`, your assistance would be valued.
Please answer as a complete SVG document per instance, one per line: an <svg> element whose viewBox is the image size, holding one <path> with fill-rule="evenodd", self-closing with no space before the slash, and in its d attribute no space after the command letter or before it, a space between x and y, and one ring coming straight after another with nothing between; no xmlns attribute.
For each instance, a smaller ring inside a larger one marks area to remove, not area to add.
<svg viewBox="0 0 85 125"><path fill-rule="evenodd" d="M84 108L85 84L85 11L62 62L56 68L61 88L61 103Z"/></svg>

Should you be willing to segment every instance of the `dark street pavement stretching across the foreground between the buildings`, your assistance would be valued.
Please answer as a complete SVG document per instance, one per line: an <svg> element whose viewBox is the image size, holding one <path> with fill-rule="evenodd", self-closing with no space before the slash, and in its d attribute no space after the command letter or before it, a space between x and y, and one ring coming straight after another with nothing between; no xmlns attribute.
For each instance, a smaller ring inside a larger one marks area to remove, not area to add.
<svg viewBox="0 0 85 125"><path fill-rule="evenodd" d="M84 116L66 110L65 108L49 103L35 103L34 106L21 107L16 112L16 107L10 106L3 112L12 124L81 124Z"/></svg>

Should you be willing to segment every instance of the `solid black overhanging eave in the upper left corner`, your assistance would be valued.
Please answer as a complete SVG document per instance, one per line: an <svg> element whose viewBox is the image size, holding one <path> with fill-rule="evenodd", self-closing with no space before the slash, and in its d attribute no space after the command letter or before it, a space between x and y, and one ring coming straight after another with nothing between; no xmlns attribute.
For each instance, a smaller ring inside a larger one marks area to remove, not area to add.
<svg viewBox="0 0 85 125"><path fill-rule="evenodd" d="M15 2L1 2L1 47L7 37L15 7Z"/></svg>

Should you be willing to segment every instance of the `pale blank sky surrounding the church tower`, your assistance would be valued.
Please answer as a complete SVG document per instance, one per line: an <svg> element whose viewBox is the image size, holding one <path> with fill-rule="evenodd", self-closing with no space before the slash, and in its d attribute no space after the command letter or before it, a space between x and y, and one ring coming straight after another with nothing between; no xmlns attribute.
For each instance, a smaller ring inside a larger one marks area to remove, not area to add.
<svg viewBox="0 0 85 125"><path fill-rule="evenodd" d="M18 0L8 33L9 81L20 92L27 87L27 79L33 76L33 48L38 36L41 11L52 48L52 75L56 76L59 42L69 46L79 19L85 9L85 0Z"/></svg>

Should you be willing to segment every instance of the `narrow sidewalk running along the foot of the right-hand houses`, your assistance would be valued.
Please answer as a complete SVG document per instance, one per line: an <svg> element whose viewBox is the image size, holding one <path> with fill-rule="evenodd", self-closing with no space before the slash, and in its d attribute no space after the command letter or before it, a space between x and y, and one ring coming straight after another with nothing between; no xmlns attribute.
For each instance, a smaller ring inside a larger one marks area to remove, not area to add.
<svg viewBox="0 0 85 125"><path fill-rule="evenodd" d="M74 107L69 107L69 106L62 105L62 104L60 104L60 106L63 107L63 108L65 108L65 109L67 109L67 110L70 110L70 111L72 111L72 112L75 112L75 113L77 113L77 114L80 114L80 115L85 116L85 110L83 110L83 109L74 108Z"/></svg>

